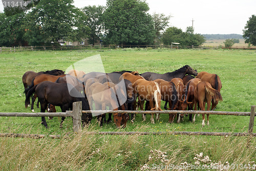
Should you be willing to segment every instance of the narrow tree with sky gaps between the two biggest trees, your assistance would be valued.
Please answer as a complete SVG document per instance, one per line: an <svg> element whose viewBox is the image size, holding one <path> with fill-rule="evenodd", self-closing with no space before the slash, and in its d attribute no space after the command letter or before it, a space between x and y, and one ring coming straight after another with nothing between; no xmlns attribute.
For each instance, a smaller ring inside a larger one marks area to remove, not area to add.
<svg viewBox="0 0 256 171"><path fill-rule="evenodd" d="M102 14L103 6L87 6L82 9L87 16L86 24L90 28L90 35L88 42L93 44L99 40L103 27Z"/></svg>

